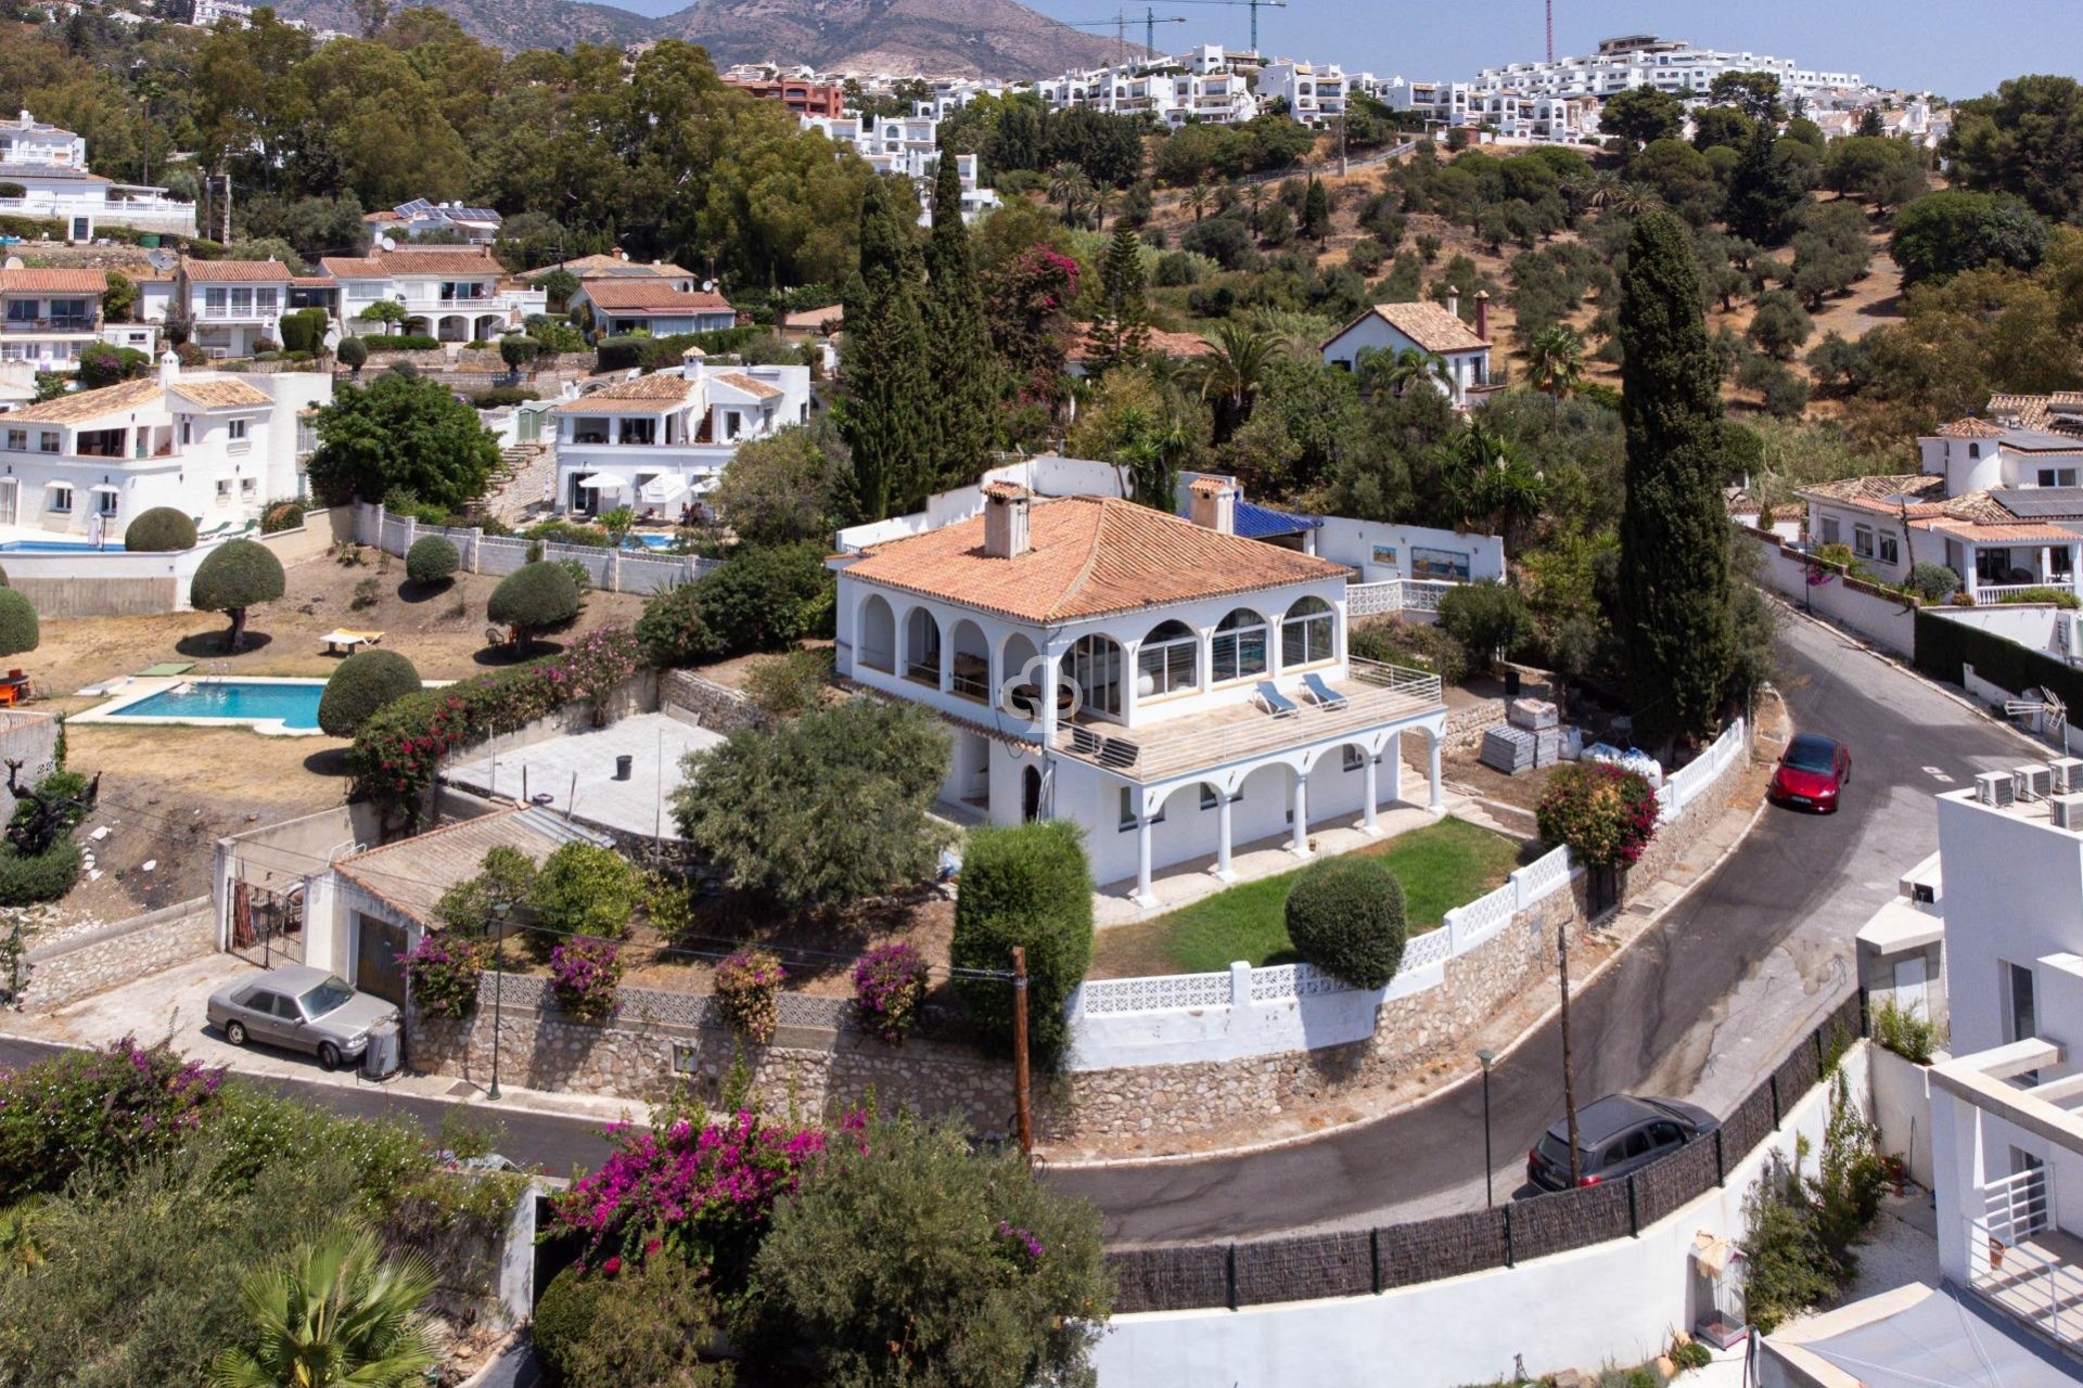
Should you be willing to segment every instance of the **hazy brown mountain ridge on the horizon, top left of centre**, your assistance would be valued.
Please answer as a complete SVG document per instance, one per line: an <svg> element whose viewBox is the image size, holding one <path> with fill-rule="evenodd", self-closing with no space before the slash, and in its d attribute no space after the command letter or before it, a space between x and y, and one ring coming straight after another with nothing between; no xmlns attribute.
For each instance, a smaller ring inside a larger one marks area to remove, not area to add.
<svg viewBox="0 0 2083 1388"><path fill-rule="evenodd" d="M906 77L1054 77L1114 58L1114 40L1079 33L1017 0L696 0L637 15L585 0L425 0L485 44L506 50L702 44L719 69L737 62ZM281 0L277 12L354 33L354 0Z"/></svg>

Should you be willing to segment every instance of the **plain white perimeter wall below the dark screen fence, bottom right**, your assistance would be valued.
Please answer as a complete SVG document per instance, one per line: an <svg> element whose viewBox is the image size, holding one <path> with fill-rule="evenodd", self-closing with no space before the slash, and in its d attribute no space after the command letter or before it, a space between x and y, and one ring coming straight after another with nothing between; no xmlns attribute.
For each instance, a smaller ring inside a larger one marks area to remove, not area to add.
<svg viewBox="0 0 2083 1388"><path fill-rule="evenodd" d="M1843 1070L1864 1105L1866 1043L1846 1053ZM1641 1238L1381 1296L1119 1315L1094 1351L1100 1388L1454 1388L1510 1380L1514 1355L1535 1378L1643 1363L1693 1323L1693 1236L1739 1238L1743 1197L1768 1155L1791 1161L1796 1134L1821 1151L1827 1122L1829 1086L1818 1084L1727 1186Z"/></svg>

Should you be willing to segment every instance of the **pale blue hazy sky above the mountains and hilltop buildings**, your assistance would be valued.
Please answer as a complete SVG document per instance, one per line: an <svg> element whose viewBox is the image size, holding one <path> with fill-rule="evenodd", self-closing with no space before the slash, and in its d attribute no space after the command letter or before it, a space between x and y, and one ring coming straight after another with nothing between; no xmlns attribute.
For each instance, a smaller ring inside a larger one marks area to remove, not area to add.
<svg viewBox="0 0 2083 1388"><path fill-rule="evenodd" d="M621 0L625 8L664 15L687 0ZM1114 0L1027 0L1056 19L1100 19ZM1160 25L1158 46L1248 44L1241 6L1139 0L1191 23ZM1341 62L1348 69L1404 77L1473 77L1485 67L1539 58L1541 0L1289 0L1258 12L1258 44L1269 56ZM1854 71L1887 87L1977 96L2018 73L2083 75L2083 0L1556 0L1556 54L1583 54L1614 33L1662 33L1706 48L1796 58L1802 67ZM1191 37L1187 37L1191 35Z"/></svg>

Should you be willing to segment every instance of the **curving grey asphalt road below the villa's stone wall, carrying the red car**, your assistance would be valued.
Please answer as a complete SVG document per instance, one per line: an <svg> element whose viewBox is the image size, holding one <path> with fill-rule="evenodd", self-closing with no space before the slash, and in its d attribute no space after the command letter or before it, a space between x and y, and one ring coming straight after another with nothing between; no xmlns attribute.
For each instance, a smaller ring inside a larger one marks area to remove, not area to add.
<svg viewBox="0 0 2083 1388"><path fill-rule="evenodd" d="M1852 936L1937 847L1931 795L2031 757L1835 633L1789 620L1781 680L1802 730L1852 747L1829 818L1768 807L1733 855L1571 1005L1579 1103L1612 1090L1735 1103L1852 988ZM1952 780L1941 780L1950 776ZM1562 1117L1550 1022L1491 1074L1498 1199ZM1483 1201L1483 1093L1462 1084L1394 1117L1246 1157L1056 1172L1106 1211L1108 1242L1223 1240L1414 1219Z"/></svg>

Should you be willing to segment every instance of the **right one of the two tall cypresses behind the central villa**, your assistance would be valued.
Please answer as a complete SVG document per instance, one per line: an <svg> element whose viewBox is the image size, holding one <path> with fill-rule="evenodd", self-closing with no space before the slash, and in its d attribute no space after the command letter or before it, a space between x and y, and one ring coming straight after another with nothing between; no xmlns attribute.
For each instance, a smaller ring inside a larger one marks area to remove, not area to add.
<svg viewBox="0 0 2083 1388"><path fill-rule="evenodd" d="M933 414L929 489L960 487L992 466L998 358L983 318L983 285L962 225L962 175L942 150L933 175L933 237L925 246L925 345Z"/></svg>

